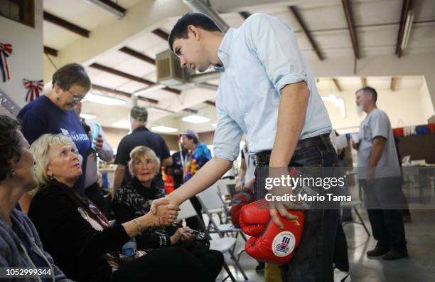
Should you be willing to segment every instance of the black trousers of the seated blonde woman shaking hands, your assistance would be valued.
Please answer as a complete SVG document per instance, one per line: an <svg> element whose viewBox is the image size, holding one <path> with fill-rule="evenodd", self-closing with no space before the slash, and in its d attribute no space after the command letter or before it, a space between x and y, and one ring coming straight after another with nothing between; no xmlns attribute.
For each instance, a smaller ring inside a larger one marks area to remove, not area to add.
<svg viewBox="0 0 435 282"><path fill-rule="evenodd" d="M111 281L215 281L223 263L215 252L198 259L182 247L158 249L121 266Z"/></svg>

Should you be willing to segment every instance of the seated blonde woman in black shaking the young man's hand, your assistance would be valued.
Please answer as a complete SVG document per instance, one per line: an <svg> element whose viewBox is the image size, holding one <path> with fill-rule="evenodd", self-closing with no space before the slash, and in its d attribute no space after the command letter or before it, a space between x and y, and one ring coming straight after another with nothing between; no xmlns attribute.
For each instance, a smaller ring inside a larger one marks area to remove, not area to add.
<svg viewBox="0 0 435 282"><path fill-rule="evenodd" d="M31 145L40 184L28 216L45 249L76 281L205 281L205 269L183 248L161 250L122 261L117 250L150 226L176 219L176 207L148 213L123 224L107 219L81 194L75 182L82 174L73 142L64 135L42 135ZM171 271L165 264L171 260ZM195 269L195 271L192 271Z"/></svg>

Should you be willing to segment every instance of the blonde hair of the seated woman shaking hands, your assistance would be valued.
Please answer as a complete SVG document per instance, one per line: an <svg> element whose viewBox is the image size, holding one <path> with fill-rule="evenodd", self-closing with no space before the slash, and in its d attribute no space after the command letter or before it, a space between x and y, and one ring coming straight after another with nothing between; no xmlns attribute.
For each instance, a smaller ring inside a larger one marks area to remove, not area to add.
<svg viewBox="0 0 435 282"><path fill-rule="evenodd" d="M50 160L48 160L48 150L65 145L75 147L73 140L61 134L44 134L32 143L31 152L36 160L35 172L36 179L38 179L38 189L50 179L47 174L48 164L50 163ZM34 189L32 194L36 194L36 192L37 189Z"/></svg>

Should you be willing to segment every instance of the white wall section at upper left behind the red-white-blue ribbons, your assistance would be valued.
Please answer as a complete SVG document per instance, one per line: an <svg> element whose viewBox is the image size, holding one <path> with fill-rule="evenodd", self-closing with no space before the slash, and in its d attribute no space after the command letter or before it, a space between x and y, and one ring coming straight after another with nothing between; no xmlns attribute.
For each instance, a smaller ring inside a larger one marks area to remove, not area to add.
<svg viewBox="0 0 435 282"><path fill-rule="evenodd" d="M0 41L12 44L8 66L10 80L0 88L20 106L26 105L27 90L23 78L43 79L43 1L35 1L35 27L26 26L0 16Z"/></svg>

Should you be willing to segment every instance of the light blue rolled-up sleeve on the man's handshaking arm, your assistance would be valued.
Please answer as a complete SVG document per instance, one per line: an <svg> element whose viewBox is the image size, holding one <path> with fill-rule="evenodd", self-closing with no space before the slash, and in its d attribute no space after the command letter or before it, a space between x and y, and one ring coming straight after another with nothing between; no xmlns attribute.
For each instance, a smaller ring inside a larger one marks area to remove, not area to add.
<svg viewBox="0 0 435 282"><path fill-rule="evenodd" d="M216 126L215 138L213 140L213 152L215 157L229 160L230 162L237 159L240 149L240 140L242 139L243 131L235 120L222 110L218 103L216 104L218 111L218 125Z"/></svg>

